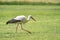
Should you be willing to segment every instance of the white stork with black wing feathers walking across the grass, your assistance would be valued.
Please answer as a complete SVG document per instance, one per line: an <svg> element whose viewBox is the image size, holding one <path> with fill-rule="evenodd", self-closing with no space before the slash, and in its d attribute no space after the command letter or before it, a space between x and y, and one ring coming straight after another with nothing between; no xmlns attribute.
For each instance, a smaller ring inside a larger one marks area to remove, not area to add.
<svg viewBox="0 0 60 40"><path fill-rule="evenodd" d="M16 32L17 32L18 26L20 24L22 30L27 31L28 33L31 33L30 31L25 30L22 27L22 25L25 24L25 23L27 23L30 19L33 19L34 21L36 21L31 15L29 15L28 18L26 18L24 15L22 15L22 16L17 16L15 18L7 21L6 24L9 24L9 23L17 23Z"/></svg>

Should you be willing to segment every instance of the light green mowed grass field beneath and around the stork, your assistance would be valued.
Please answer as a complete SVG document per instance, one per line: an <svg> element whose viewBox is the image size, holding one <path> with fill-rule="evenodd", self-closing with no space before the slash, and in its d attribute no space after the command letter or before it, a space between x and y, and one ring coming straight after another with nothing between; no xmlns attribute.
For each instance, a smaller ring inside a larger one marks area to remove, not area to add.
<svg viewBox="0 0 60 40"><path fill-rule="evenodd" d="M18 15L32 15L36 22L30 20L16 33L16 24L6 22ZM0 5L0 40L60 40L60 6L59 5Z"/></svg>

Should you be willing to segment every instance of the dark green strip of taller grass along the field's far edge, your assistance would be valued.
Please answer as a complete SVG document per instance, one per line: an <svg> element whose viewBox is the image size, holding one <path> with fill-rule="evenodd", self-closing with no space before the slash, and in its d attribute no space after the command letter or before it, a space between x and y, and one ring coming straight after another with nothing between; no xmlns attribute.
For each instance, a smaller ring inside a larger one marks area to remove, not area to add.
<svg viewBox="0 0 60 40"><path fill-rule="evenodd" d="M13 1L13 2L0 2L0 5L60 5L59 2L24 2L24 1Z"/></svg>

